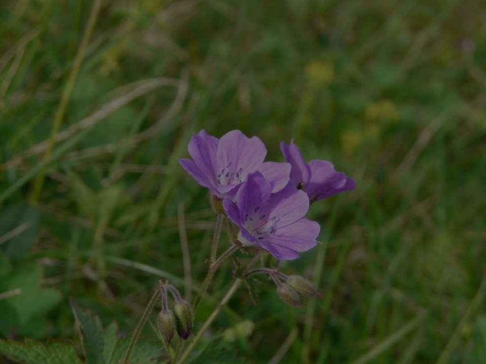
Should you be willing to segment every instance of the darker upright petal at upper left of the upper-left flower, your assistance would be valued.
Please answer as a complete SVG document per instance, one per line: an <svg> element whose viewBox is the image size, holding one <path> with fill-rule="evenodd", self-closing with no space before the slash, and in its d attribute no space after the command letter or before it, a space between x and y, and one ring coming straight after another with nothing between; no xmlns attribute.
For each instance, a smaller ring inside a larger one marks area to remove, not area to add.
<svg viewBox="0 0 486 364"><path fill-rule="evenodd" d="M206 133L205 130L194 134L188 145L189 154L193 157L194 163L213 186L217 181L217 147L218 139Z"/></svg>

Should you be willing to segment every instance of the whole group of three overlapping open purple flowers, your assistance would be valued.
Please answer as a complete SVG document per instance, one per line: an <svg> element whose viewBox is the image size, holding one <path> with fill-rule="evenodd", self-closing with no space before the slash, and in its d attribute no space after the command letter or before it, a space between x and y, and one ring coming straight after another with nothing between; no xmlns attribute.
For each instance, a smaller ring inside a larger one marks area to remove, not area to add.
<svg viewBox="0 0 486 364"><path fill-rule="evenodd" d="M240 228L240 242L279 260L295 259L316 246L320 226L305 217L310 203L355 187L327 160L306 163L293 141L280 144L286 163L265 162L265 144L239 130L220 139L202 130L188 149L192 159L179 159L180 164L222 201Z"/></svg>

